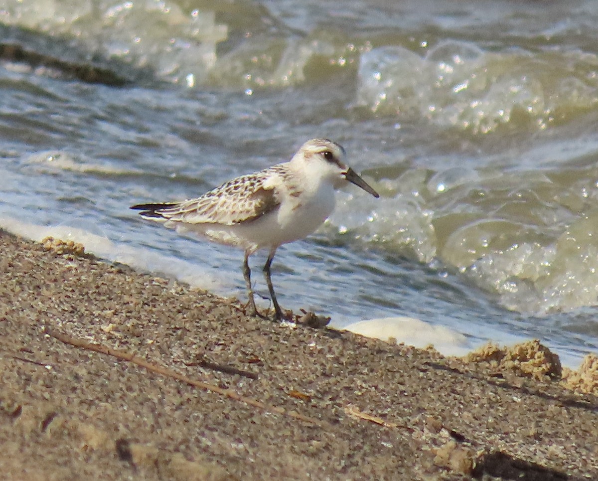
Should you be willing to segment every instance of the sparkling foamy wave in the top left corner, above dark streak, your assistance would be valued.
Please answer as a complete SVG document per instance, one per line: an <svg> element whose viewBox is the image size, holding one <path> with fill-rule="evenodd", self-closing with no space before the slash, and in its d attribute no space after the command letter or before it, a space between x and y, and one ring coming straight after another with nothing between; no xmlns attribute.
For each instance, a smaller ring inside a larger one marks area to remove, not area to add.
<svg viewBox="0 0 598 481"><path fill-rule="evenodd" d="M216 62L216 44L227 38L227 27L215 22L215 11L184 9L173 1L7 0L0 21L48 38L44 44L27 42L59 58L74 56L90 64L97 57L118 59L121 68L149 68L157 80L189 87L205 80ZM54 52L52 38L66 41L68 53Z"/></svg>

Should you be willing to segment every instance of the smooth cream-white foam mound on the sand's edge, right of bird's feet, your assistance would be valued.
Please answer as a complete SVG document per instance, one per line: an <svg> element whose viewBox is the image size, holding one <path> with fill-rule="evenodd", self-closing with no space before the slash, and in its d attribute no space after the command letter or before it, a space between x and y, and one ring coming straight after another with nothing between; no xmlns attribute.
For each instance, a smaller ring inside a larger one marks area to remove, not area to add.
<svg viewBox="0 0 598 481"><path fill-rule="evenodd" d="M432 325L411 317L387 317L354 322L344 330L388 341L391 337L416 348L432 344L443 355L462 356L472 349L467 337L442 325Z"/></svg>

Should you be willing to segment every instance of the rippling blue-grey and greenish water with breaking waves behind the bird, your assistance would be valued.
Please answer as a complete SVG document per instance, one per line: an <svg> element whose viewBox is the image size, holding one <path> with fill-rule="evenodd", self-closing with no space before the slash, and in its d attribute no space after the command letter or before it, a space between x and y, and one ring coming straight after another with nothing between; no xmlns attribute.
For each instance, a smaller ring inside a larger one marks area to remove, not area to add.
<svg viewBox="0 0 598 481"><path fill-rule="evenodd" d="M2 226L244 297L241 252L127 207L324 136L382 197L347 187L279 250L283 306L598 350L596 2L7 0L0 22Z"/></svg>

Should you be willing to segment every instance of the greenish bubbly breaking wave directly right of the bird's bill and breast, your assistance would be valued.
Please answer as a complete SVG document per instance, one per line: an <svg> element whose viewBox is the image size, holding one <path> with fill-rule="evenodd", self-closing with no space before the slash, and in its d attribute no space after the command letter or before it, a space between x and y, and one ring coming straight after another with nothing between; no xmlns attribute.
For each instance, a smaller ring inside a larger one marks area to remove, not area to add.
<svg viewBox="0 0 598 481"><path fill-rule="evenodd" d="M341 203L328 229L453 272L509 310L567 312L598 304L597 179L594 163L568 172L407 169L371 181L383 193L376 203Z"/></svg>

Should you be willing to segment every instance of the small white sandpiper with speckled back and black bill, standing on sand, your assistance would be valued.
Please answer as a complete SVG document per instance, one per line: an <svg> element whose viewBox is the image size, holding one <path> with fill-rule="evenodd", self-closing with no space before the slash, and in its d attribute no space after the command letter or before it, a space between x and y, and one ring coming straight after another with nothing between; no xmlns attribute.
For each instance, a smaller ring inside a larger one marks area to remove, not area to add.
<svg viewBox="0 0 598 481"><path fill-rule="evenodd" d="M270 249L264 277L276 319L283 314L274 294L270 265L280 245L314 232L334 209L334 189L344 182L379 197L353 169L343 163L344 148L335 142L312 139L289 162L237 177L182 202L134 205L131 209L181 233L245 249L243 277L249 296L249 314L264 317L255 308L248 259L260 248Z"/></svg>

